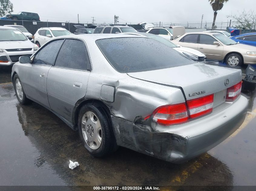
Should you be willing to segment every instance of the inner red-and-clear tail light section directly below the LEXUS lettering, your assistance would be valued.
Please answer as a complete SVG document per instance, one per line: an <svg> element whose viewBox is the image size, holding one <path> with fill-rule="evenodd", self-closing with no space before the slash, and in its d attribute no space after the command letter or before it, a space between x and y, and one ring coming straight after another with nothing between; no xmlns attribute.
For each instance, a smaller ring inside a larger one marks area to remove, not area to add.
<svg viewBox="0 0 256 191"><path fill-rule="evenodd" d="M212 112L214 94L188 100L188 111L190 118L199 117Z"/></svg>

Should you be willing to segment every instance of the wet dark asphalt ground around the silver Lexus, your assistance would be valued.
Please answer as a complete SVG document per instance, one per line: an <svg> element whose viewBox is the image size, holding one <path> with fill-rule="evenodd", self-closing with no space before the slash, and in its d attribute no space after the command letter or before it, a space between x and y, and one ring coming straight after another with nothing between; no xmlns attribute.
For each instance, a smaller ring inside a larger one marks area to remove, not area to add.
<svg viewBox="0 0 256 191"><path fill-rule="evenodd" d="M91 157L78 132L52 112L18 103L11 67L0 67L0 186L248 186L256 185L256 101L244 123L224 142L184 164L172 164L120 147ZM69 160L80 166L71 170Z"/></svg>

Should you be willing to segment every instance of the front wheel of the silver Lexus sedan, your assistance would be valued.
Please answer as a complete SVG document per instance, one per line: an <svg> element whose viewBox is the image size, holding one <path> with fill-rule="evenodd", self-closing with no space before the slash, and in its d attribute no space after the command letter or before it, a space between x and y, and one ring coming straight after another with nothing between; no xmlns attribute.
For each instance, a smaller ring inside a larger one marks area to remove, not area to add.
<svg viewBox="0 0 256 191"><path fill-rule="evenodd" d="M15 74L13 77L13 88L15 91L15 95L21 104L26 105L31 102L31 100L29 100L27 98L27 96L22 88L20 78L18 77L17 74Z"/></svg>

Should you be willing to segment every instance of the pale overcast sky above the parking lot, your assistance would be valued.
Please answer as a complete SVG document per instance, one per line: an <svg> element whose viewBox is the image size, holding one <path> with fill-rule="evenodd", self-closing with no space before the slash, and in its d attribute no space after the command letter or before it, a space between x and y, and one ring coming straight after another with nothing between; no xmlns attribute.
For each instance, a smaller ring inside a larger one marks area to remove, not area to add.
<svg viewBox="0 0 256 191"><path fill-rule="evenodd" d="M119 23L138 24L139 22L165 23L201 23L212 22L213 10L208 0L10 0L13 13L19 11L35 12L41 21L81 23L114 23L114 15L119 16ZM227 22L228 14L238 11L254 10L256 0L229 0L218 11L217 22Z"/></svg>

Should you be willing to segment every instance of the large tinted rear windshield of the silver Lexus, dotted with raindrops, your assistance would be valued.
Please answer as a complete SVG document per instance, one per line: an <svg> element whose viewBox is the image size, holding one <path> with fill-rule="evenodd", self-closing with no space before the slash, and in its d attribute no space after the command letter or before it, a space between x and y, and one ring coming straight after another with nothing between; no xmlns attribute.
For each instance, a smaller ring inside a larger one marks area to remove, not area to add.
<svg viewBox="0 0 256 191"><path fill-rule="evenodd" d="M101 52L120 73L143 72L195 63L151 38L126 37L96 40Z"/></svg>

